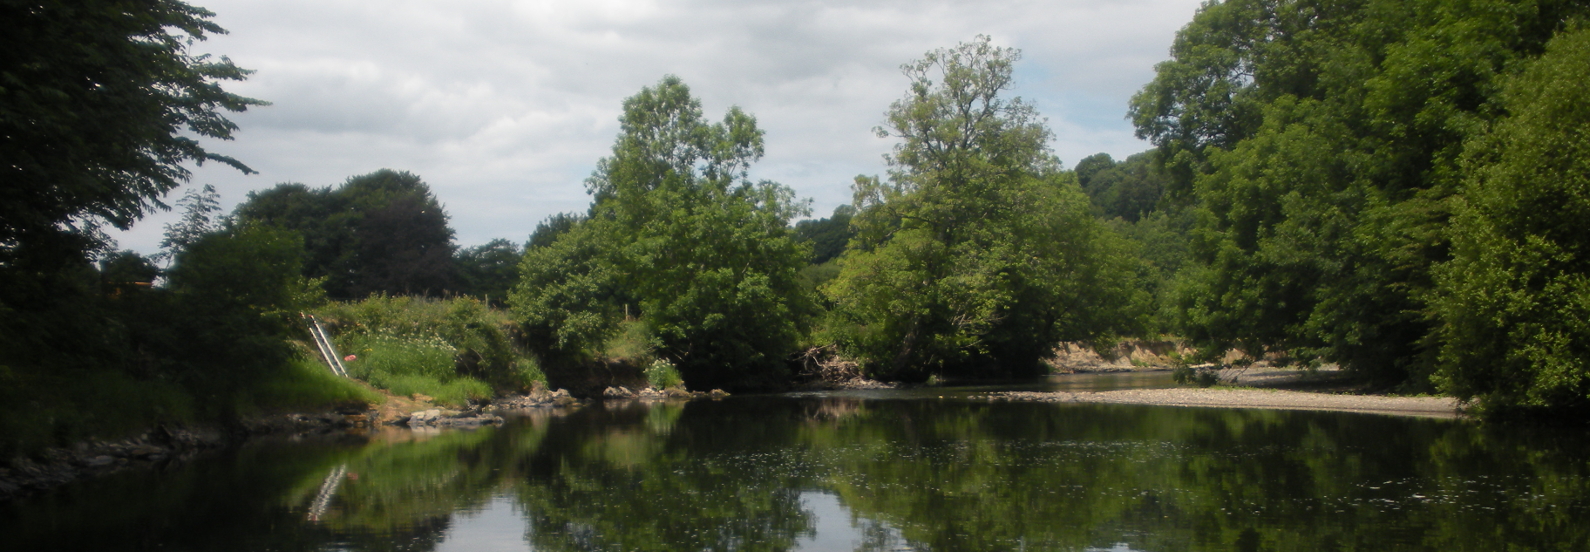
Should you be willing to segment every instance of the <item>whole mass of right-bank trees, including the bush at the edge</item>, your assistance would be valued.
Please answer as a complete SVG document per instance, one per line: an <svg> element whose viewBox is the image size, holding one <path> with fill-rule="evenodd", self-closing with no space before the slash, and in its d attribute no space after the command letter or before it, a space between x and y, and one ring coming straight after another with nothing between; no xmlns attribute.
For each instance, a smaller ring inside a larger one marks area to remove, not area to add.
<svg viewBox="0 0 1590 552"><path fill-rule="evenodd" d="M1159 210L1191 226L1186 262L1156 290L1161 326L1207 352L1439 387L1487 415L1585 410L1590 119L1569 84L1585 14L1205 5L1130 110L1158 146Z"/></svg>

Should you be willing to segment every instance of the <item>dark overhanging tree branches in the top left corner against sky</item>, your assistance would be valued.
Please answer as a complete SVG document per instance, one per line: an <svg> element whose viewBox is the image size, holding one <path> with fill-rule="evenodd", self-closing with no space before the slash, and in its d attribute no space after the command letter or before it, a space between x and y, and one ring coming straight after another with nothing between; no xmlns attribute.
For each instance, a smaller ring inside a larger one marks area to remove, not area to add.
<svg viewBox="0 0 1590 552"><path fill-rule="evenodd" d="M175 0L8 2L0 6L0 262L65 245L84 221L126 229L189 175L184 162L242 162L197 138L227 140L223 115L266 102L221 89L250 72L204 54L224 33Z"/></svg>

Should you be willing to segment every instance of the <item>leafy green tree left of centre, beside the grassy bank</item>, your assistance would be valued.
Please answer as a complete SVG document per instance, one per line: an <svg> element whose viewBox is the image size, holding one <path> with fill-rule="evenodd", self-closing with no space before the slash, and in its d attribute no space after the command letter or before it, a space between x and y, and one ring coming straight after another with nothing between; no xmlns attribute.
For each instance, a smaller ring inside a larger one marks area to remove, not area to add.
<svg viewBox="0 0 1590 552"><path fill-rule="evenodd" d="M615 286L687 385L782 379L809 310L798 282L809 250L789 229L805 205L747 177L763 153L755 118L730 108L708 122L666 76L626 99L619 121L612 156L587 180L590 220L526 253L515 309L533 328L579 320L591 331L547 329L588 344L623 312L601 301Z"/></svg>

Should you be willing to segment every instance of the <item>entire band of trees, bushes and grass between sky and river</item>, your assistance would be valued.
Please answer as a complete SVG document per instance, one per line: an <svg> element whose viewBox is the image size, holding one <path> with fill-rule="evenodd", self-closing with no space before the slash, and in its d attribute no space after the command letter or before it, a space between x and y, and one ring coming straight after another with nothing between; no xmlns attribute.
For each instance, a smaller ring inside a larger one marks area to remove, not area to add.
<svg viewBox="0 0 1590 552"><path fill-rule="evenodd" d="M981 37L903 67L887 173L793 226L806 204L749 177L755 118L711 122L666 76L623 102L590 208L523 248L460 248L431 188L383 169L231 216L189 189L149 258L100 227L162 208L188 162L248 172L197 140L264 105L191 52L224 30L172 0L0 16L0 401L22 410L0 457L372 399L294 348L304 310L356 375L450 404L544 385L542 363L746 390L812 348L943 380L1178 336L1590 417L1582 2L1212 2L1132 99L1154 150L1075 170L1003 95L1019 52Z"/></svg>

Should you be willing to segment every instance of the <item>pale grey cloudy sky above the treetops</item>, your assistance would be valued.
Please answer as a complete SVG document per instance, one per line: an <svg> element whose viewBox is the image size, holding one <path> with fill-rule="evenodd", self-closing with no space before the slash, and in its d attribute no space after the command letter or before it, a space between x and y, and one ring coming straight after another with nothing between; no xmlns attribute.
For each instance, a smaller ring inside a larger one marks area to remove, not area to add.
<svg viewBox="0 0 1590 552"><path fill-rule="evenodd" d="M259 173L194 170L231 208L283 181L331 186L377 169L418 173L460 245L517 242L584 210L625 97L679 75L709 119L739 105L766 132L752 178L789 185L824 216L906 91L898 67L983 33L1019 48L1014 95L1037 103L1067 165L1146 150L1124 119L1199 0L189 0L231 33L197 48L256 73L227 89L273 105L232 116L210 150ZM156 213L114 237L154 251Z"/></svg>

